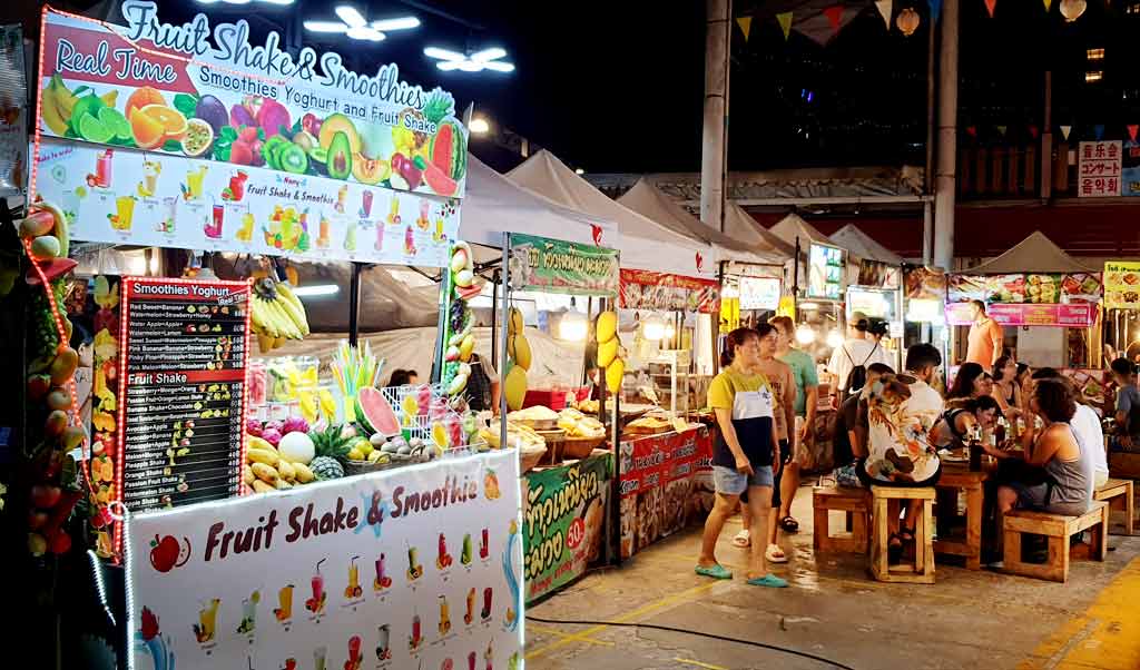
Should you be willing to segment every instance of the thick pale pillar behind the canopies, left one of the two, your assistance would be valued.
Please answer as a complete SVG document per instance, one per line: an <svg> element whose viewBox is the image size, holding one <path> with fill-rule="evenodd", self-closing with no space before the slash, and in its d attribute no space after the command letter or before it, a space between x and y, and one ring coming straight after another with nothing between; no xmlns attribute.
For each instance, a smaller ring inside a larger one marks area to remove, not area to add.
<svg viewBox="0 0 1140 670"><path fill-rule="evenodd" d="M725 120L728 113L730 0L707 0L705 124L701 131L701 221L724 230Z"/></svg>

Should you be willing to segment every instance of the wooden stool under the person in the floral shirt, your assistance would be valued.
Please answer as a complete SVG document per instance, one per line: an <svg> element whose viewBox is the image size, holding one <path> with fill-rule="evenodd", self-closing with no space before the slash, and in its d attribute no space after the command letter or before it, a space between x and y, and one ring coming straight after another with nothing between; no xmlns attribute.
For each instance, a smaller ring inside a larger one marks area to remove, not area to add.
<svg viewBox="0 0 1140 670"><path fill-rule="evenodd" d="M878 581L905 583L934 583L934 487L902 488L871 487L871 575ZM921 500L922 514L914 525L914 565L890 565L887 549L890 546L890 500Z"/></svg>

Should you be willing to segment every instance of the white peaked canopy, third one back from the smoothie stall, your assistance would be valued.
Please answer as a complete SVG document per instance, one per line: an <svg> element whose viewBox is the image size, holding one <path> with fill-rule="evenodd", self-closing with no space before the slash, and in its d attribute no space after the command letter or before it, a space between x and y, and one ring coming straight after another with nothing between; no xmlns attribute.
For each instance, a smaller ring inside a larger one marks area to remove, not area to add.
<svg viewBox="0 0 1140 670"><path fill-rule="evenodd" d="M734 239L701 222L700 219L690 214L689 210L661 193L644 178L638 179L633 188L618 198L618 202L638 214L666 226L674 232L697 237L712 245L722 261L779 265L791 256L791 254L780 254L776 251L756 250L752 245Z"/></svg>

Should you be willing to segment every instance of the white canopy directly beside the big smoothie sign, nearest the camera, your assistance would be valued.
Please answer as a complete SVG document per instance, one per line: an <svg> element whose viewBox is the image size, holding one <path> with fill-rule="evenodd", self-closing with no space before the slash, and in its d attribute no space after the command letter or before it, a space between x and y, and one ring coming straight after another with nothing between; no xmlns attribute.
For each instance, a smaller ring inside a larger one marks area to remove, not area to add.
<svg viewBox="0 0 1140 670"><path fill-rule="evenodd" d="M467 154L467 195L463 198L459 238L498 248L504 231L609 247L617 247L619 235L611 219L522 188Z"/></svg>

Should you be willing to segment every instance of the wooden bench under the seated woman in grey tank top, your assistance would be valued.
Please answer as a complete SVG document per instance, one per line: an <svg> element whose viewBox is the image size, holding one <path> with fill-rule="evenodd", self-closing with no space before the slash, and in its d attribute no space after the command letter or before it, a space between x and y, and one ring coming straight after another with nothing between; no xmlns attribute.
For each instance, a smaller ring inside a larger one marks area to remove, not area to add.
<svg viewBox="0 0 1140 670"><path fill-rule="evenodd" d="M1005 513L1002 534L1005 542L1005 572L1052 581L1068 580L1069 538L1084 530L1092 530L1091 557L1104 561L1108 550L1108 502L1094 500L1089 512L1081 516L1065 516L1045 512L1013 509ZM1021 533L1049 538L1049 558L1045 563L1021 561Z"/></svg>

